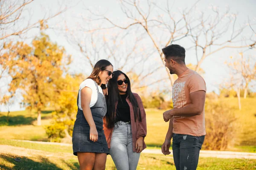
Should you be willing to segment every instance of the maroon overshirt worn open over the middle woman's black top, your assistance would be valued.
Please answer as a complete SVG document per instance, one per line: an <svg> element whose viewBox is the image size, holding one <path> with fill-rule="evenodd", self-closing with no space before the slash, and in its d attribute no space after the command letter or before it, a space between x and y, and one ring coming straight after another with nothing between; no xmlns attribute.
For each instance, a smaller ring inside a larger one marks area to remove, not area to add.
<svg viewBox="0 0 256 170"><path fill-rule="evenodd" d="M141 136L143 136L143 150L146 148L144 138L147 134L147 125L146 125L146 113L145 113L145 109L143 107L142 101L140 99L140 96L136 93L133 93L133 95L136 98L138 105L139 105L139 109L140 109L140 113L141 113L141 122L139 122L138 119L136 122L134 121L134 110L133 110L133 107L132 107L131 102L128 99L128 97L126 98L126 101L127 101L128 105L130 106L133 151L136 152L137 151L135 149L136 141ZM116 103L116 107L117 107L117 103ZM108 142L108 148L110 148L111 147L110 142L111 142L111 136L113 133L113 128L107 128L107 126L105 124L105 120L104 120L103 130L104 130L107 142Z"/></svg>

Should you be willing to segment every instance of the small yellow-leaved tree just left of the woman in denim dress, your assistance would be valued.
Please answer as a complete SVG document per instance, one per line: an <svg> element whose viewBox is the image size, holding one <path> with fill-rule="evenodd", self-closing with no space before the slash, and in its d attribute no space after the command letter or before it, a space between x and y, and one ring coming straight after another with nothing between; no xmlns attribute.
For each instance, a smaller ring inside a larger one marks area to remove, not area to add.
<svg viewBox="0 0 256 170"><path fill-rule="evenodd" d="M72 141L71 136L77 113L77 94L79 85L83 80L81 74L67 74L58 79L54 98L54 122L46 128L48 138L51 141L60 142L60 138L65 136L69 142Z"/></svg>

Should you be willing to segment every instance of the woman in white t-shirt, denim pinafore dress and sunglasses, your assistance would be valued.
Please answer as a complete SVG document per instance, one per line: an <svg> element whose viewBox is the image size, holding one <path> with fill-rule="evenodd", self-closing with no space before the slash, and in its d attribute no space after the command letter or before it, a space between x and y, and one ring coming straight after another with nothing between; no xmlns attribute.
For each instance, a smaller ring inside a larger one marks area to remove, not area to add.
<svg viewBox="0 0 256 170"><path fill-rule="evenodd" d="M107 105L101 85L114 76L112 72L113 65L108 60L99 60L79 88L72 142L80 170L105 170L109 149L103 132L103 117Z"/></svg>

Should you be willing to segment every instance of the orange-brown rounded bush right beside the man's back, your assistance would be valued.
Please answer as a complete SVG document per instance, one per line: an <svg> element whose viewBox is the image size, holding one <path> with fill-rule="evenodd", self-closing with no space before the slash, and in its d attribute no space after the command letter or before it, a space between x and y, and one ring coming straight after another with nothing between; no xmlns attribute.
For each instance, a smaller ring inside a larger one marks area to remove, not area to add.
<svg viewBox="0 0 256 170"><path fill-rule="evenodd" d="M205 104L206 132L203 149L225 150L236 142L235 108L223 102L208 100Z"/></svg>

